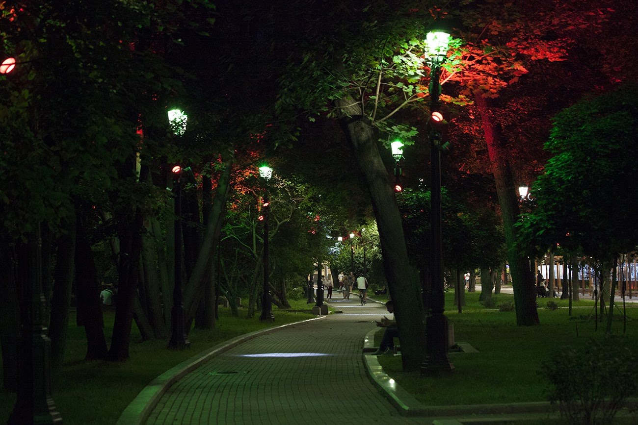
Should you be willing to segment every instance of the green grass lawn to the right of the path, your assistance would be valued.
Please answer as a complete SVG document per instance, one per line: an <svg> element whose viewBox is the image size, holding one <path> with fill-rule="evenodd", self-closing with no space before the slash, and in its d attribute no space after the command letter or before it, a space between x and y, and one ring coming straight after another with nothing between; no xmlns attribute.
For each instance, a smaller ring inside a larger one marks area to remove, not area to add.
<svg viewBox="0 0 638 425"><path fill-rule="evenodd" d="M547 310L549 299L538 299L540 326L516 326L514 312L499 312L480 305L479 293L466 294L463 313L452 305L454 293L445 299L446 315L454 323L456 342L467 342L479 353L450 353L454 374L420 377L419 372L401 371L399 356L378 357L386 373L426 405L461 405L546 401L541 363L551 361L565 347L581 347L590 338L602 338L606 327L598 322L595 331L593 301L575 303L572 317L567 300L554 299L558 310ZM496 296L496 304L512 301L512 295ZM614 309L612 332L623 334L622 306ZM638 352L638 305L627 308L627 343ZM380 334L378 334L380 338ZM638 366L638 365L636 365Z"/></svg>

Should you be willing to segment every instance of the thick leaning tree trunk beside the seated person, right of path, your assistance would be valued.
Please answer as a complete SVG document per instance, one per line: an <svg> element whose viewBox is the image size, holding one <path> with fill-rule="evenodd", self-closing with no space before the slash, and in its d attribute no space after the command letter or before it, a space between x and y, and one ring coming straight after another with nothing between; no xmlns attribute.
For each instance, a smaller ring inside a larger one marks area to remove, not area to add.
<svg viewBox="0 0 638 425"><path fill-rule="evenodd" d="M399 327L403 370L417 370L426 353L425 312L419 301L419 275L408 260L401 215L390 176L379 154L375 129L362 117L360 104L352 97L338 99L336 104L347 117L341 119L341 124L352 144L372 199L385 278Z"/></svg>

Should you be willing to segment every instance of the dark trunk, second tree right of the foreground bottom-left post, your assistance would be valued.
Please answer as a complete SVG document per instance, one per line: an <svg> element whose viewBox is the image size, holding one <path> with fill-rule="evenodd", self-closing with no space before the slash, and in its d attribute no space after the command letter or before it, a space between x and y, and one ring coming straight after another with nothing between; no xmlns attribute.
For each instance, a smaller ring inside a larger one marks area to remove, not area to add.
<svg viewBox="0 0 638 425"><path fill-rule="evenodd" d="M78 211L79 213L79 211ZM75 234L75 292L77 314L84 322L86 359L105 359L107 341L104 336L104 318L100 302L100 284L91 244L87 239L84 220L78 215Z"/></svg>

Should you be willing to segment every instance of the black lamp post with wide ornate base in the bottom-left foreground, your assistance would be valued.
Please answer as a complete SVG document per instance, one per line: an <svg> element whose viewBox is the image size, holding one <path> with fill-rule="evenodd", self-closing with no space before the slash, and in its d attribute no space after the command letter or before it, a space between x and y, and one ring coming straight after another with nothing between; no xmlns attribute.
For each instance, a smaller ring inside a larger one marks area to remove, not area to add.
<svg viewBox="0 0 638 425"><path fill-rule="evenodd" d="M42 293L40 225L19 252L20 336L18 394L9 424L62 423L51 397L51 340L47 337Z"/></svg>

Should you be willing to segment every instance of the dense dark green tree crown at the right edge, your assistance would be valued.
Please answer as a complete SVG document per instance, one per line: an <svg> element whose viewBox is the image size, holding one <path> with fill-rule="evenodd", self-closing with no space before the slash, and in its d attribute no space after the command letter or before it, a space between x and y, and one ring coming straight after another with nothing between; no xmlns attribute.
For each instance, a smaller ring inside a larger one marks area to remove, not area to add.
<svg viewBox="0 0 638 425"><path fill-rule="evenodd" d="M521 244L555 243L611 260L638 243L638 86L581 101L554 117L545 148L554 156L533 185L537 208L521 222Z"/></svg>

